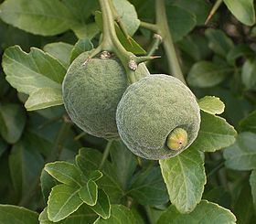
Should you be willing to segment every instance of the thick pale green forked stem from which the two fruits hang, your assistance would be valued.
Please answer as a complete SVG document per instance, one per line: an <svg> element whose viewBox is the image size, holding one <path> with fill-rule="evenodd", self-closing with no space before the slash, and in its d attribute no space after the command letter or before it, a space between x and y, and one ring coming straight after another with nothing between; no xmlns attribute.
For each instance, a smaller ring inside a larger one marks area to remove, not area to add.
<svg viewBox="0 0 256 224"><path fill-rule="evenodd" d="M123 67L127 73L130 83L136 81L134 71L130 69L129 62L131 57L135 57L133 53L128 52L120 43L114 27L115 17L112 12L113 5L111 0L99 0L101 5L101 13L103 20L102 42L101 46L103 50L112 51L121 60Z"/></svg>

